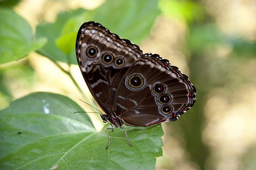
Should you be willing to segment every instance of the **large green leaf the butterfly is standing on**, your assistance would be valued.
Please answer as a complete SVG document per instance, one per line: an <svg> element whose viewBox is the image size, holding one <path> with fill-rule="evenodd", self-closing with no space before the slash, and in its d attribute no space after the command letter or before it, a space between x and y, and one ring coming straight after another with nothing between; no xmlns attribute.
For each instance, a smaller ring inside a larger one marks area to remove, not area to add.
<svg viewBox="0 0 256 170"><path fill-rule="evenodd" d="M96 132L68 97L39 92L0 111L2 169L154 169L162 155L161 125Z"/></svg>

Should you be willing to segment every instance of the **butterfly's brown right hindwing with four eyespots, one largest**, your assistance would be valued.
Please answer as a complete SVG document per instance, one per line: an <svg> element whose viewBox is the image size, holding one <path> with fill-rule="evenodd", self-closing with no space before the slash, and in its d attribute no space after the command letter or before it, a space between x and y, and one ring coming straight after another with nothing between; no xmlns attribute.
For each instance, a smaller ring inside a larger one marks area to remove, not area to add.
<svg viewBox="0 0 256 170"><path fill-rule="evenodd" d="M125 125L150 126L175 121L195 103L188 77L157 54L144 54L117 87L114 113Z"/></svg>

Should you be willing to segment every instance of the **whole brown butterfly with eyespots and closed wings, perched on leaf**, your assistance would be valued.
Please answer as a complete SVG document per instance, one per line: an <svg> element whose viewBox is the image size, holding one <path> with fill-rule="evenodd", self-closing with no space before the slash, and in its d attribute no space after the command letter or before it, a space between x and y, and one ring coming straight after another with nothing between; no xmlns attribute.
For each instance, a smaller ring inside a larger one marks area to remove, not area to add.
<svg viewBox="0 0 256 170"><path fill-rule="evenodd" d="M158 54L142 53L96 22L81 25L75 44L83 78L105 112L109 129L151 126L178 120L194 105L196 88L178 67Z"/></svg>

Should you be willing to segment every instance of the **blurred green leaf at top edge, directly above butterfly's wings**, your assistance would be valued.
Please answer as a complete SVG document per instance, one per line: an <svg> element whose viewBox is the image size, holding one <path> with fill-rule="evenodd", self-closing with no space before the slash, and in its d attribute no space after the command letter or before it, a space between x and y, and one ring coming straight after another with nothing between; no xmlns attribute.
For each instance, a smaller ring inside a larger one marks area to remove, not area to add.
<svg viewBox="0 0 256 170"><path fill-rule="evenodd" d="M140 44L149 36L158 15L157 0L112 0L96 8L92 19L124 39Z"/></svg>

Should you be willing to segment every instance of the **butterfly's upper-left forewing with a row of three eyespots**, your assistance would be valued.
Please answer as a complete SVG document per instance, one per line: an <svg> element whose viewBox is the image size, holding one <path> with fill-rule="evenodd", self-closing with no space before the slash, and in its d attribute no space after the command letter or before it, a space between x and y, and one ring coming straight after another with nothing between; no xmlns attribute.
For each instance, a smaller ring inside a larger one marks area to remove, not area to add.
<svg viewBox="0 0 256 170"><path fill-rule="evenodd" d="M95 22L82 24L75 51L91 94L103 111L110 114L121 78L142 51Z"/></svg>

